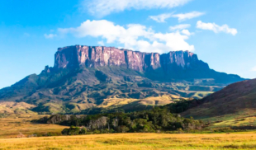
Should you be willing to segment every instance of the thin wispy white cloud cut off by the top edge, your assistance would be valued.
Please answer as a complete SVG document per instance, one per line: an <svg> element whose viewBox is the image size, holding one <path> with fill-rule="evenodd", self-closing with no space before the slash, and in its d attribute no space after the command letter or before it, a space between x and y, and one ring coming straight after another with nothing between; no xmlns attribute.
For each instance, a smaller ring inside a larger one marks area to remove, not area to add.
<svg viewBox="0 0 256 150"><path fill-rule="evenodd" d="M83 0L82 10L94 16L107 16L112 12L130 9L172 8L186 4L191 0Z"/></svg>

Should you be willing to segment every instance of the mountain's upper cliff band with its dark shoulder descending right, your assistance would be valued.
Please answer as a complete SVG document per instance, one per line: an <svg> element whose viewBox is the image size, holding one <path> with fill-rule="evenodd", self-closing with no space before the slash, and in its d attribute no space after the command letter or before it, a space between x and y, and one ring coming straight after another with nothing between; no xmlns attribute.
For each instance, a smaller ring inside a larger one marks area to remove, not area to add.
<svg viewBox="0 0 256 150"><path fill-rule="evenodd" d="M165 82L175 79L212 78L216 83L227 84L243 80L237 75L218 73L210 69L207 63L197 58L197 54L188 51L158 54L113 47L74 45L58 49L53 69L104 66L132 69L145 73L151 80Z"/></svg>

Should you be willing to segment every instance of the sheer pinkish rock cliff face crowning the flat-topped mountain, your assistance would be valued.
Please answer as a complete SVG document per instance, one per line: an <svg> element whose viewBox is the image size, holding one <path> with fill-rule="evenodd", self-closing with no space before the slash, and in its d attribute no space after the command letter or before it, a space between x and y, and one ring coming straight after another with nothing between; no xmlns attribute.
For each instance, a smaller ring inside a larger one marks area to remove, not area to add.
<svg viewBox="0 0 256 150"><path fill-rule="evenodd" d="M88 68L122 66L140 72L157 68L164 68L164 71L172 68L209 69L207 63L197 59L197 54L188 51L157 54L81 45L58 49L55 54L55 68L77 68L79 66Z"/></svg>

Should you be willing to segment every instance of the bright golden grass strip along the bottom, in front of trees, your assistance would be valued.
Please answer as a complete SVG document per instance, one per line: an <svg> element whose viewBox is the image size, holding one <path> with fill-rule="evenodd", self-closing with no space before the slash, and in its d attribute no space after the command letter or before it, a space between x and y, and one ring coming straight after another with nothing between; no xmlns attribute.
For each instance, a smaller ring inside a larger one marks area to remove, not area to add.
<svg viewBox="0 0 256 150"><path fill-rule="evenodd" d="M0 149L255 149L256 133L94 134L0 139Z"/></svg>

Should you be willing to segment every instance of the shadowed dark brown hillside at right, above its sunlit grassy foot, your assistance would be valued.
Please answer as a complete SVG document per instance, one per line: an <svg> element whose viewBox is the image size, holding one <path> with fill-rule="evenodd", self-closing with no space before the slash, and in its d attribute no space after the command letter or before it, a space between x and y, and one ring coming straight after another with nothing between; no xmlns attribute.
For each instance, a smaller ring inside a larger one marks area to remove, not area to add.
<svg viewBox="0 0 256 150"><path fill-rule="evenodd" d="M224 115L254 115L256 108L256 79L236 82L203 99L204 103L183 112L197 119Z"/></svg>

